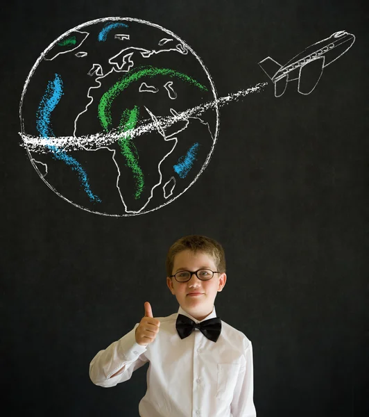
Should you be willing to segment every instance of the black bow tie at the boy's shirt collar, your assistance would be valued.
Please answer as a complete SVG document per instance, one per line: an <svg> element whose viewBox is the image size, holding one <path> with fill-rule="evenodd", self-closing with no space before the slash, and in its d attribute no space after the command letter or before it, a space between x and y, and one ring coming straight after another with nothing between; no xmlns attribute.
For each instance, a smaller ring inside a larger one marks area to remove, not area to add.
<svg viewBox="0 0 369 417"><path fill-rule="evenodd" d="M175 322L175 329L177 329L180 338L189 336L194 329L200 329L200 332L206 336L209 341L216 342L221 334L222 322L220 317L209 318L203 322L196 324L191 318L178 314Z"/></svg>

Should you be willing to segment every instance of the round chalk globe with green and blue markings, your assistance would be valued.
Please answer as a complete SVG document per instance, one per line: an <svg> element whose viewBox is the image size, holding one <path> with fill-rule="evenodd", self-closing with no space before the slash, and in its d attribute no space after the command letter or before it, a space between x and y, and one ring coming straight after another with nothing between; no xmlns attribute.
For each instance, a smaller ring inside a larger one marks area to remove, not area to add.
<svg viewBox="0 0 369 417"><path fill-rule="evenodd" d="M216 100L203 61L177 35L139 19L96 19L61 35L33 65L20 134L35 170L67 202L139 215L178 198L203 172L218 136Z"/></svg>

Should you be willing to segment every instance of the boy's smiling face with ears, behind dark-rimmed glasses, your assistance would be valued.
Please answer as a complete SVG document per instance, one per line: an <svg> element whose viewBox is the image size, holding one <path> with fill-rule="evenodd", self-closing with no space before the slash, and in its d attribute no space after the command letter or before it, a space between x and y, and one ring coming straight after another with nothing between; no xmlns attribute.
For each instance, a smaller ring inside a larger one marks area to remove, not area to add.
<svg viewBox="0 0 369 417"><path fill-rule="evenodd" d="M216 271L212 256L204 252L194 254L191 250L184 250L175 255L172 275L182 270L194 272L199 269ZM187 282L178 282L174 277L166 277L166 284L182 309L200 321L212 313L216 294L222 291L226 280L225 273L214 274L214 277L207 281L201 281L193 274ZM189 295L192 292L201 293L201 295Z"/></svg>

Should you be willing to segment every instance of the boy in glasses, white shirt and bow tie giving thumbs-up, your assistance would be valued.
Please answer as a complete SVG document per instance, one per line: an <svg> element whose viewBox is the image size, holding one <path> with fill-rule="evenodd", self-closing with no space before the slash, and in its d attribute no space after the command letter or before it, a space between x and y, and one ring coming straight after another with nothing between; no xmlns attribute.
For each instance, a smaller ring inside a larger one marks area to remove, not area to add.
<svg viewBox="0 0 369 417"><path fill-rule="evenodd" d="M141 417L255 417L251 342L215 312L227 279L223 248L206 236L180 238L166 275L178 313L154 318L146 302L141 322L92 359L92 382L115 386L150 361Z"/></svg>

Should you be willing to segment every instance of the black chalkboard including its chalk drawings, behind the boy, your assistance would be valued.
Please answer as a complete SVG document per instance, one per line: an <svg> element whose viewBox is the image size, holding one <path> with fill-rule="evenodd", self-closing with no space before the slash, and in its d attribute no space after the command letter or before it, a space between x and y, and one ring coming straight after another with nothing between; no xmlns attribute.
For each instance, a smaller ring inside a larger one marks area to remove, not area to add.
<svg viewBox="0 0 369 417"><path fill-rule="evenodd" d="M369 415L368 18L1 6L4 415L138 416L148 366L102 389L89 362L144 302L178 311L164 263L188 234L225 249L216 312L252 341L257 416Z"/></svg>

